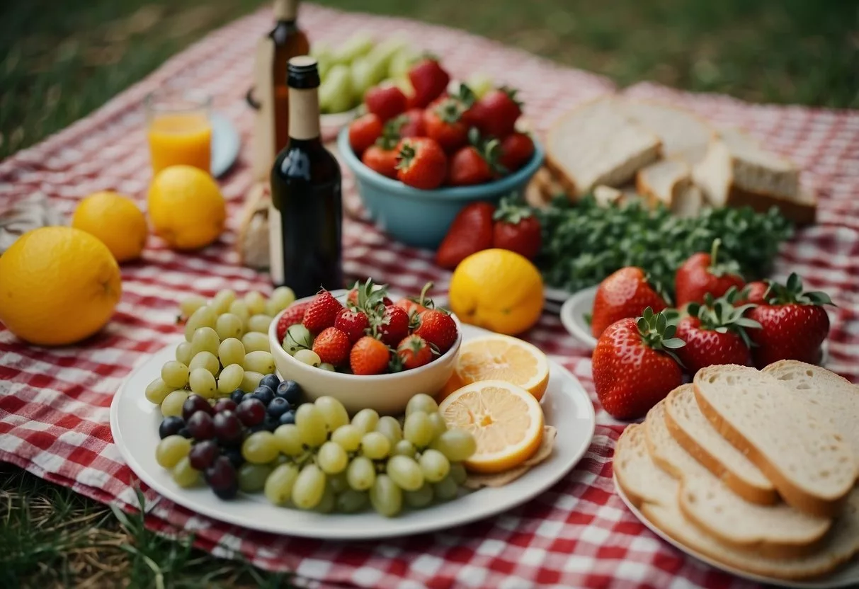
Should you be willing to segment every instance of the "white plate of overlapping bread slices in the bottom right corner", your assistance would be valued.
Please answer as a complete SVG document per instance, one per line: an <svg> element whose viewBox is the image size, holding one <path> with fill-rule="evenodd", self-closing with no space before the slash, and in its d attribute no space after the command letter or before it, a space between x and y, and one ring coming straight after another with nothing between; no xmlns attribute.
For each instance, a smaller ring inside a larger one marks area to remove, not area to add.
<svg viewBox="0 0 859 589"><path fill-rule="evenodd" d="M859 585L859 386L821 367L700 370L621 434L632 513L701 561L793 587Z"/></svg>

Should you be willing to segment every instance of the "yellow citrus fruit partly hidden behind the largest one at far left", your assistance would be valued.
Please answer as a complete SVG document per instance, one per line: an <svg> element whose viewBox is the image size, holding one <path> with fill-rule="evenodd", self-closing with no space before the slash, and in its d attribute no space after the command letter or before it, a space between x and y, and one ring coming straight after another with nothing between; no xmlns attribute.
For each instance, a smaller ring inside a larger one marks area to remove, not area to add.
<svg viewBox="0 0 859 589"><path fill-rule="evenodd" d="M149 234L146 217L137 204L111 191L84 198L71 217L71 226L99 238L117 262L140 258Z"/></svg>

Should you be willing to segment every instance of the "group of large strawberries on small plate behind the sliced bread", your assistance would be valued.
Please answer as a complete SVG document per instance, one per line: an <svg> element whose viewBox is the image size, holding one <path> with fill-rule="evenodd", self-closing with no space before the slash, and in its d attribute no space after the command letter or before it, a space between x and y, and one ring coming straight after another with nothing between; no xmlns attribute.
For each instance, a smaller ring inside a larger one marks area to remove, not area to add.
<svg viewBox="0 0 859 589"><path fill-rule="evenodd" d="M694 254L677 270L678 308L669 308L640 268L623 268L600 283L591 317L599 338L592 367L597 397L610 415L644 416L684 374L704 367L820 361L829 296L805 292L796 274L784 284L746 284L734 264L719 262L718 247L716 240L712 252Z"/></svg>

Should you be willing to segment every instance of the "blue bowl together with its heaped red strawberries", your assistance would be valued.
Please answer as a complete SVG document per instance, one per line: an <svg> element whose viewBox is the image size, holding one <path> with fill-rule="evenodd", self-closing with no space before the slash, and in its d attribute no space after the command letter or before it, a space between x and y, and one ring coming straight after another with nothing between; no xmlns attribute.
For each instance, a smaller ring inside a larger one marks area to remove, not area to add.
<svg viewBox="0 0 859 589"><path fill-rule="evenodd" d="M450 88L436 59L408 72L409 89L382 84L364 95L366 114L340 131L338 151L374 222L405 244L436 248L468 203L521 193L543 149L516 128L515 90Z"/></svg>

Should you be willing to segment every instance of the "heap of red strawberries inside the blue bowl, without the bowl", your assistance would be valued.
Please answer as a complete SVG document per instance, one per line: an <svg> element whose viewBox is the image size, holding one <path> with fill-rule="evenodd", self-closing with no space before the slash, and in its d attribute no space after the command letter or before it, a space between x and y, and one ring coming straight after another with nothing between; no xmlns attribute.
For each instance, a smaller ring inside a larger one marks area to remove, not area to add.
<svg viewBox="0 0 859 589"><path fill-rule="evenodd" d="M484 184L531 159L533 140L515 131L515 90L495 88L478 99L460 84L448 94L450 76L435 58L414 64L408 76L414 94L393 85L364 94L367 114L350 124L349 143L365 166L433 190Z"/></svg>

